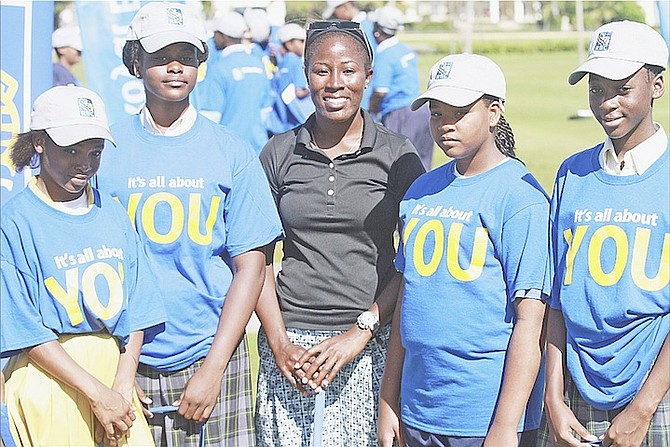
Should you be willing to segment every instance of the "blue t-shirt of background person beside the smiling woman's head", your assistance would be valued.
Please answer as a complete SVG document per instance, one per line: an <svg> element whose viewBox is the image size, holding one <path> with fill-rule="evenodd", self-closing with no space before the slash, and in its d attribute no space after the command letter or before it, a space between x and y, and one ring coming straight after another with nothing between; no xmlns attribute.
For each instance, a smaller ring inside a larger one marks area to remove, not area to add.
<svg viewBox="0 0 670 447"><path fill-rule="evenodd" d="M303 61L295 53L286 53L272 80L275 102L268 129L280 134L304 123L314 112L314 103L310 95L298 98L296 90L306 89L307 77Z"/></svg>

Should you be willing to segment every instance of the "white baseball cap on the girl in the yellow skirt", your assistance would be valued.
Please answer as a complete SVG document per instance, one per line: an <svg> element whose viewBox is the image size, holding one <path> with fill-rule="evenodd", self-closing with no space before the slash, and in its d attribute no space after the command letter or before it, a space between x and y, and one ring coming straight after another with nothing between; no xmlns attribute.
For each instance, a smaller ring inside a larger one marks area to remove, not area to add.
<svg viewBox="0 0 670 447"><path fill-rule="evenodd" d="M103 138L116 146L102 99L72 84L50 88L37 97L30 114L30 130L45 130L59 146L91 138Z"/></svg>

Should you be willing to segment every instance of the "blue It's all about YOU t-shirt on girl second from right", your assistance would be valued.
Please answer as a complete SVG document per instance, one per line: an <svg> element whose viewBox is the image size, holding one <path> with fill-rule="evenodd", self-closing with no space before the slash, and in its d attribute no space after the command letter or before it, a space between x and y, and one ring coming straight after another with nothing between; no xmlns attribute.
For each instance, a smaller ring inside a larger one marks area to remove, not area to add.
<svg viewBox="0 0 670 447"><path fill-rule="evenodd" d="M474 177L456 177L454 163L419 177L400 204L401 413L430 433L486 436L515 294L548 291L549 203L516 160ZM534 393L519 431L539 426L541 404Z"/></svg>

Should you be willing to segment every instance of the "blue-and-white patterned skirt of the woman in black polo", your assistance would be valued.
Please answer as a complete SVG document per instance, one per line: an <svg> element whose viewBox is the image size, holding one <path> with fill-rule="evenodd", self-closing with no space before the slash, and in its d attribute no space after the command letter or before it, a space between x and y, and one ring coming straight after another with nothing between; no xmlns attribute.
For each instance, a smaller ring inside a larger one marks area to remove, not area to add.
<svg viewBox="0 0 670 447"><path fill-rule="evenodd" d="M287 329L292 343L310 347L344 331ZM390 325L379 329L363 352L345 365L326 388L323 447L377 446L379 388L384 373ZM262 328L256 400L259 446L309 447L315 425L315 396L304 397L277 368Z"/></svg>

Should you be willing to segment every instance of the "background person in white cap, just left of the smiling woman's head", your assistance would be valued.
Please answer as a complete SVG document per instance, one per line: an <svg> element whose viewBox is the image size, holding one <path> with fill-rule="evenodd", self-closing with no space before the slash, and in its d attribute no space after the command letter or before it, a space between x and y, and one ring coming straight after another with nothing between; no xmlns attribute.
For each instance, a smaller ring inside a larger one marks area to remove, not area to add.
<svg viewBox="0 0 670 447"><path fill-rule="evenodd" d="M314 112L303 64L305 29L297 23L279 28L277 37L284 47L284 56L277 67L272 89L276 95L268 130L279 134L305 122Z"/></svg>

